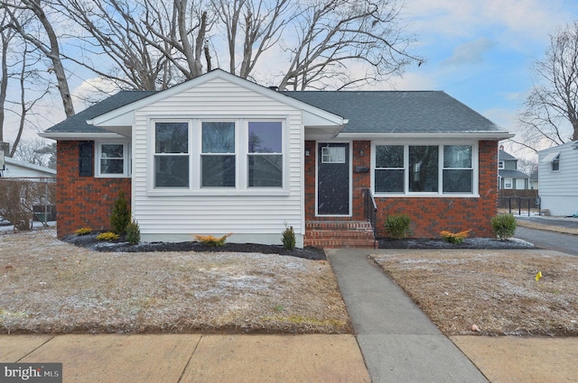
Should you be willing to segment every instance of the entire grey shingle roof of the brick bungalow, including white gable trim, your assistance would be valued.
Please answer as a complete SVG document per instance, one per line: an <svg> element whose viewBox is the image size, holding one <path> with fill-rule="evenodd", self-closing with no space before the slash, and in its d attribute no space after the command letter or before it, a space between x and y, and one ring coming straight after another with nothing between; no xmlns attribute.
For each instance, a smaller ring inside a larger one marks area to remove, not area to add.
<svg viewBox="0 0 578 383"><path fill-rule="evenodd" d="M314 124L342 125L339 135L368 137L393 135L461 135L498 140L512 137L486 117L442 91L285 91L277 92L221 69L163 91L121 91L96 105L57 123L42 137L81 139L97 135L118 137L113 127L130 125L135 109L197 87L214 78L224 78L241 87L303 110ZM306 124L306 123L305 123ZM99 127L100 126L100 127ZM107 127L111 127L107 130ZM70 138L68 138L70 137Z"/></svg>

